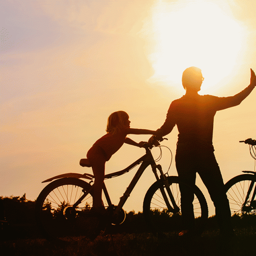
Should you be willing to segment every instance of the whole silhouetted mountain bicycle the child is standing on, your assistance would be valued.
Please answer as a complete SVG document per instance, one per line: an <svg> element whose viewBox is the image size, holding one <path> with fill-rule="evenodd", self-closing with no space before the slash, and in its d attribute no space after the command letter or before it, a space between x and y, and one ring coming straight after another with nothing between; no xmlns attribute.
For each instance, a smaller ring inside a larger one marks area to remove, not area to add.
<svg viewBox="0 0 256 256"><path fill-rule="evenodd" d="M163 138L159 141L162 141ZM131 191L141 178L142 173L148 166L151 166L156 182L153 183L146 192L143 201L143 215L150 231L154 234L165 232L165 227L174 225L181 227L180 218L180 193L178 176L168 176L164 173L161 165L156 164L151 149L158 146L162 155L160 143L154 138L152 142L144 144L146 154L138 158L130 166L122 171L113 172L105 175L105 179L111 179L123 175L140 164L130 185L120 198L118 205L111 202L105 183L103 192L108 212L108 223L118 225L123 223L126 212L122 209ZM169 149L170 150L170 149ZM170 150L171 151L171 150ZM89 167L90 165L84 165ZM171 165L170 165L171 166ZM169 167L170 169L170 167ZM86 182L82 179L87 179ZM93 203L93 175L89 173L67 173L57 175L43 181L49 183L40 193L36 202L36 217L40 228L44 231L47 238L58 240L76 239L77 236L95 238L100 229L95 228L97 218L90 214ZM187 189L191 189L187 187ZM208 206L203 193L198 187L194 191L194 212L198 232L203 232L203 223L208 218ZM98 220L99 221L99 220ZM97 226L97 225L96 225ZM179 231L178 231L179 232Z"/></svg>

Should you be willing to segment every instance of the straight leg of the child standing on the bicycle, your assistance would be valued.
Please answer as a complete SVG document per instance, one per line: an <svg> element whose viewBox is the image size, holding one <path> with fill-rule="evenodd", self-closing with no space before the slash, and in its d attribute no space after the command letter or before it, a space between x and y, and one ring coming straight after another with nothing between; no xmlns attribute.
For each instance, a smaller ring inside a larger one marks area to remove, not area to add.
<svg viewBox="0 0 256 256"><path fill-rule="evenodd" d="M88 151L87 158L92 165L93 175L95 177L93 188L93 208L95 208L95 210L102 210L102 186L105 176L106 157L100 147L93 146Z"/></svg>

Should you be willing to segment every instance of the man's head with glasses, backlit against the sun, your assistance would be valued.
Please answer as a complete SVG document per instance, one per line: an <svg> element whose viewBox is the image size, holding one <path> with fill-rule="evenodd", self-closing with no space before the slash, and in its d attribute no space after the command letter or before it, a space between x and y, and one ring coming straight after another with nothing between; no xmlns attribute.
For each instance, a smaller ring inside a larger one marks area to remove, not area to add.
<svg viewBox="0 0 256 256"><path fill-rule="evenodd" d="M201 69L190 67L184 70L182 75L182 85L185 90L199 91L203 82Z"/></svg>

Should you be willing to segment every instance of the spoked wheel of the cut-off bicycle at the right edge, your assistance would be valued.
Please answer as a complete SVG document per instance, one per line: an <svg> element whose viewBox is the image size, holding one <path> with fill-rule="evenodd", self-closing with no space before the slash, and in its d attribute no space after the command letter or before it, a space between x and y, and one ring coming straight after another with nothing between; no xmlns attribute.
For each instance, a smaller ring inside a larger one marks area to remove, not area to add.
<svg viewBox="0 0 256 256"><path fill-rule="evenodd" d="M247 202L244 202L251 182L255 182ZM225 184L228 196L229 207L232 215L256 215L256 199L252 199L252 193L256 186L256 176L241 174L230 179ZM248 203L254 201L254 207L249 207ZM245 206L245 207L244 207Z"/></svg>

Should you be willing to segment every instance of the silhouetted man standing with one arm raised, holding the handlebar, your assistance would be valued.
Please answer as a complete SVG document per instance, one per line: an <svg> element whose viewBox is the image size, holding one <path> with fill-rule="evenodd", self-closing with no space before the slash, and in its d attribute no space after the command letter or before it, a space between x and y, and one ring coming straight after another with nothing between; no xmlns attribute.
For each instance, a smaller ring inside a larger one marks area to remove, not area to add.
<svg viewBox="0 0 256 256"><path fill-rule="evenodd" d="M196 173L200 175L215 205L220 233L229 236L233 233L231 212L212 145L213 120L216 111L239 105L251 93L256 85L256 76L251 69L250 85L232 97L223 98L199 95L203 79L199 68L190 67L183 72L182 84L186 93L171 102L167 118L157 132L159 136L165 136L177 125L179 135L175 161L178 175L191 187L195 185ZM186 186L180 186L180 192L184 223L184 231L180 235L194 234L193 195Z"/></svg>

